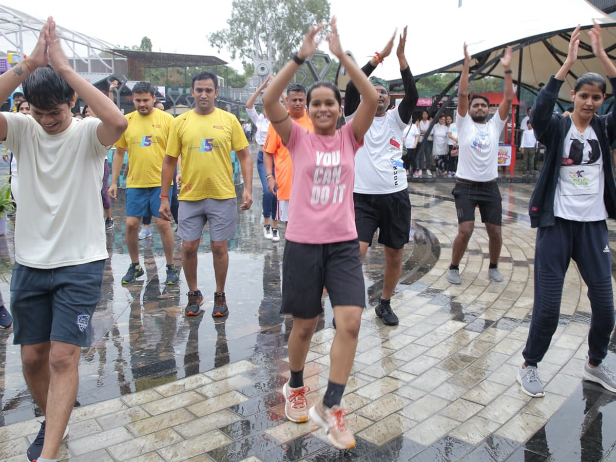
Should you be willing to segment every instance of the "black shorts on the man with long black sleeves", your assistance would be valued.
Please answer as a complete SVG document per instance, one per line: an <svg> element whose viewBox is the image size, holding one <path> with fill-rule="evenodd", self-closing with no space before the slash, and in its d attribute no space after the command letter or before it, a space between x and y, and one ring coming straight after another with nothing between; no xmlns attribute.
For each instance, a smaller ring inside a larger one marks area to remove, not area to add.
<svg viewBox="0 0 616 462"><path fill-rule="evenodd" d="M355 227L359 240L372 244L379 229L379 243L401 249L411 232L411 201L408 191L389 194L353 193Z"/></svg>

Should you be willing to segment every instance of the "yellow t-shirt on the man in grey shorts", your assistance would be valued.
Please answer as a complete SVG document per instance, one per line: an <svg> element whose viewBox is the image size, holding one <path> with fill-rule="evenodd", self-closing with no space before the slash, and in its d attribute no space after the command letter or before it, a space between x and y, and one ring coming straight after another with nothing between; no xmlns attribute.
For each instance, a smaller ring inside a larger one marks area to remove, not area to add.
<svg viewBox="0 0 616 462"><path fill-rule="evenodd" d="M179 200L235 198L231 151L248 146L240 121L215 108L209 115L190 110L171 124L167 155L182 155L182 188Z"/></svg>

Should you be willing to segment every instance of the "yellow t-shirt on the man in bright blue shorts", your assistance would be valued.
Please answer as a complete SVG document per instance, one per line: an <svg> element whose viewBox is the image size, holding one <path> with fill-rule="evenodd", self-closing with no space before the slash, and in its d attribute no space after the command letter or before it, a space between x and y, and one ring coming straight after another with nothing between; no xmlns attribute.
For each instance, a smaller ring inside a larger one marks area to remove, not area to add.
<svg viewBox="0 0 616 462"><path fill-rule="evenodd" d="M173 116L155 108L147 116L140 115L139 111L132 111L126 115L126 120L128 128L115 144L128 149L126 187L160 186L163 158Z"/></svg>

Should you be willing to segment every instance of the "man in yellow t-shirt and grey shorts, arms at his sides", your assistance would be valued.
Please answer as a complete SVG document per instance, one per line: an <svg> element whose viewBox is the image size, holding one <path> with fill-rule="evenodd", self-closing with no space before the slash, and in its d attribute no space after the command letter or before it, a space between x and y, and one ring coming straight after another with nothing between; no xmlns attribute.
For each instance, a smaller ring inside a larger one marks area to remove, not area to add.
<svg viewBox="0 0 616 462"><path fill-rule="evenodd" d="M218 96L216 75L200 72L193 76L190 94L195 98L195 108L178 116L169 131L163 161L160 214L171 221L168 187L177 158L182 155L177 234L184 240L182 266L188 283L185 314L201 314L203 295L197 288L197 251L203 227L209 221L216 275L212 315L226 316L229 314L225 298L229 269L227 240L235 235L237 223L231 151L234 150L240 160L241 176L244 179L240 210L248 210L253 204L253 161L240 121L233 114L214 106Z"/></svg>

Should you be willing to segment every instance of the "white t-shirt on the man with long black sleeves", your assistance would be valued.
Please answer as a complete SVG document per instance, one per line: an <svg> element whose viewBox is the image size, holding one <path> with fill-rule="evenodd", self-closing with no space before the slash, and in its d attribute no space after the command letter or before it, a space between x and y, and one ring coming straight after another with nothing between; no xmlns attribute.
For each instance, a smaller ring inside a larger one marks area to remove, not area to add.
<svg viewBox="0 0 616 462"><path fill-rule="evenodd" d="M355 113L346 117L350 123ZM402 163L402 131L398 108L375 117L355 154L355 187L362 194L387 194L408 188Z"/></svg>

